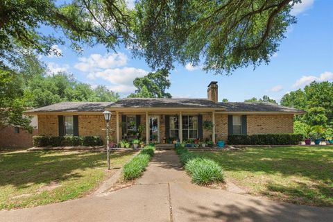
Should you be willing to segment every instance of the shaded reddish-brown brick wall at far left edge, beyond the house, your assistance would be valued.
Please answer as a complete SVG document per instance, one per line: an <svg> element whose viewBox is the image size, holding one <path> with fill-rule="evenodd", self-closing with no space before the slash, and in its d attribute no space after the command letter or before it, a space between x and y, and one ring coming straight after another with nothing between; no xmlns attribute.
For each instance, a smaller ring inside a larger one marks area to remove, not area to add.
<svg viewBox="0 0 333 222"><path fill-rule="evenodd" d="M14 126L7 126L0 130L0 148L27 148L33 146L33 136L38 130L33 129L33 133L19 128L19 133L15 133Z"/></svg>

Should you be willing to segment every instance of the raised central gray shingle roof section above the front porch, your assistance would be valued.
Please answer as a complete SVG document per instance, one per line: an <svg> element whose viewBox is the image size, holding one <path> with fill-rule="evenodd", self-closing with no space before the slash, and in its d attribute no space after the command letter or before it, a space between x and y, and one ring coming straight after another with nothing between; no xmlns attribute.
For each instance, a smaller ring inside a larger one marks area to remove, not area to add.
<svg viewBox="0 0 333 222"><path fill-rule="evenodd" d="M108 108L222 108L208 99L126 98Z"/></svg>

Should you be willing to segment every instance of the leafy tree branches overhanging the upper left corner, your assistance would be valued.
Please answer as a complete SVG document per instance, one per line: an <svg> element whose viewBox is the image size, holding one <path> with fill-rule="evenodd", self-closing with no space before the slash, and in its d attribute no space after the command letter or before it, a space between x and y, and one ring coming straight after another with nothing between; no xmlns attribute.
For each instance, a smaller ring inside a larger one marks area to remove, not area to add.
<svg viewBox="0 0 333 222"><path fill-rule="evenodd" d="M72 0L61 5L55 0L0 1L0 67L15 67L25 50L57 53L53 45L65 44L64 37L76 51L81 44L98 43L114 49L129 39L129 22L123 0ZM54 32L42 34L41 27Z"/></svg>

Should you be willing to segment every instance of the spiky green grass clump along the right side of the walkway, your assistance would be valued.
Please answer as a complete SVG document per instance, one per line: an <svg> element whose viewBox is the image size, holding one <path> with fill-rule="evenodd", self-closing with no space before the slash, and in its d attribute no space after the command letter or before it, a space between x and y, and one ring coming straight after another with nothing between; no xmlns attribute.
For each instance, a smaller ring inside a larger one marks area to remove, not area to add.
<svg viewBox="0 0 333 222"><path fill-rule="evenodd" d="M191 176L192 182L198 185L210 185L213 182L224 180L223 169L214 160L197 157L196 154L190 153L186 148L176 148L176 152L179 155L180 162Z"/></svg>

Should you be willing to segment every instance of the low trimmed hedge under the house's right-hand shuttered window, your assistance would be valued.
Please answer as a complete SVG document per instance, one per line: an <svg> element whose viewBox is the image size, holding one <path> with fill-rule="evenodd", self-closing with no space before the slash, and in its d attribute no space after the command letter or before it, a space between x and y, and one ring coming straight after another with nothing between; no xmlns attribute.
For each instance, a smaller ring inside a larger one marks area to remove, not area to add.
<svg viewBox="0 0 333 222"><path fill-rule="evenodd" d="M228 135L228 144L233 145L298 145L301 134L255 134Z"/></svg>

